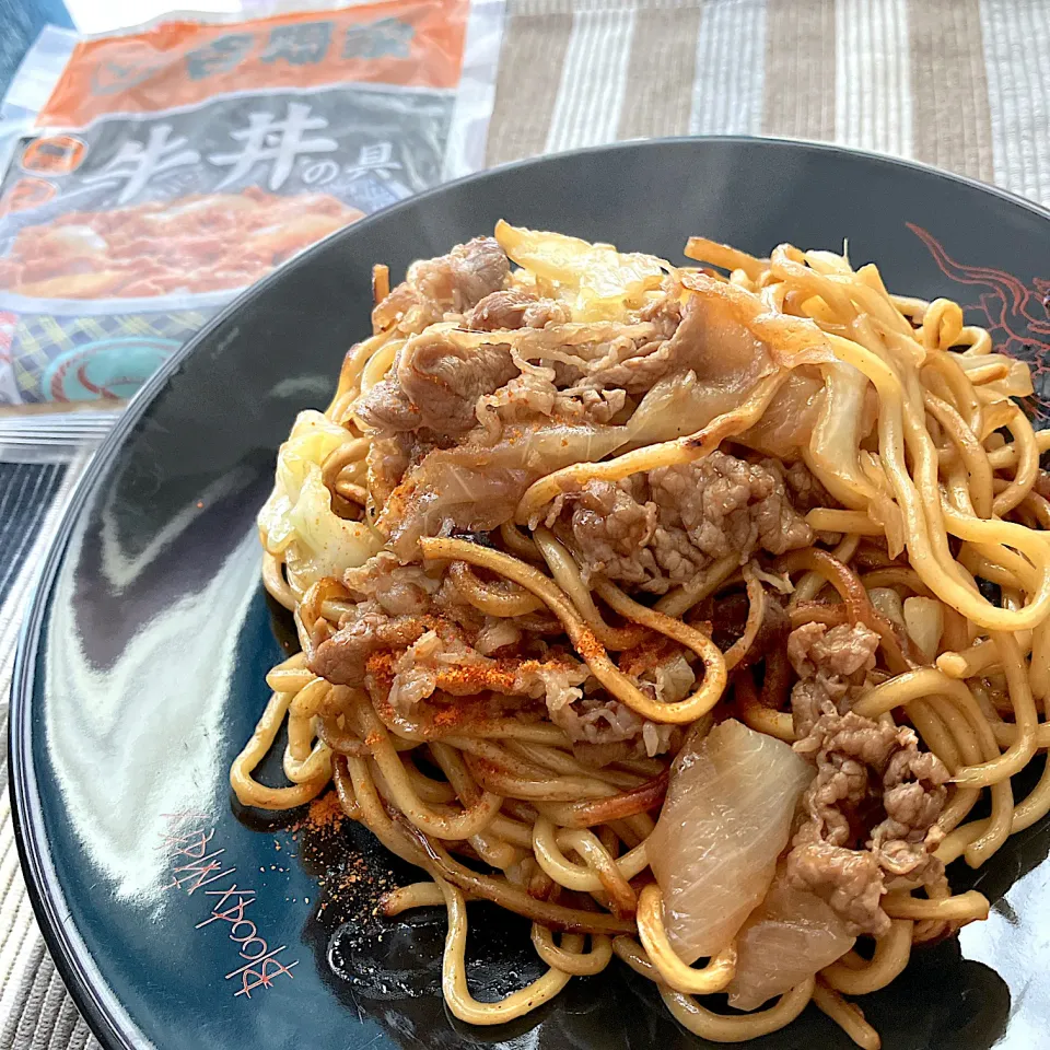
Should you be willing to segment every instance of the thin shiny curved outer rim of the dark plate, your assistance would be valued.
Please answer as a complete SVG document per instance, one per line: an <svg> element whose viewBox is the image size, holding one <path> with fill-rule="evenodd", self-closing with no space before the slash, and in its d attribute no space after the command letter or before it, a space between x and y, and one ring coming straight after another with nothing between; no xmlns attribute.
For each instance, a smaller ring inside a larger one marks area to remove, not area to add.
<svg viewBox="0 0 1050 1050"><path fill-rule="evenodd" d="M970 189L998 197L1007 203L1020 207L1037 218L1050 222L1050 208L1043 207L1034 200L1015 194L1012 190L994 186L990 183L948 172L933 164L922 161L894 156L877 150L860 149L842 145L836 142L818 142L812 139L794 138L791 136L748 136L748 135L699 135L699 136L665 136L652 139L628 139L619 142L609 142L591 145L576 150L565 150L559 153L548 153L539 156L525 158L508 164L474 172L462 178L441 183L421 194L416 194L405 200L382 208L364 219L360 219L348 226L336 230L316 244L311 245L289 261L289 266L303 266L312 256L325 250L328 243L348 235L348 231L363 230L376 221L400 209L417 207L421 201L440 196L453 187L470 184L479 179L489 178L493 174L533 167L550 161L565 160L573 156L584 156L593 153L626 152L628 150L645 149L660 145L763 145L771 150L791 149L812 151L816 153L848 154L876 162L895 168L918 171L926 175L958 183ZM349 234L352 235L352 234ZM14 831L14 841L18 849L19 862L25 883L26 896L33 908L34 918L40 931L45 947L55 964L74 1005L98 1040L103 1050L140 1050L142 1047L154 1047L147 1040L135 1024L133 1018L122 1005L109 993L105 977L95 970L94 959L86 947L80 942L75 928L69 928L68 920L72 912L68 907L66 895L59 885L57 874L50 858L47 836L42 822L38 789L35 777L30 735L33 714L32 693L35 684L35 665L40 652L40 631L44 614L54 591L55 580L62 564L69 547L69 538L81 514L84 513L86 497L97 487L107 474L118 450L124 445L128 434L145 415L147 409L158 395L167 385L172 375L214 330L252 302L265 294L271 284L281 280L284 267L279 267L268 273L255 284L244 289L223 310L182 347L143 384L131 398L121 417L106 436L105 441L95 451L91 463L78 479L66 511L55 532L47 551L44 555L37 579L28 599L22 626L19 631L18 648L11 670L10 704L8 714L8 788L10 792L11 820ZM97 975L93 979L93 972ZM103 989L105 991L103 991ZM116 1007L116 1008L114 1008ZM163 1050L163 1048L158 1048Z"/></svg>

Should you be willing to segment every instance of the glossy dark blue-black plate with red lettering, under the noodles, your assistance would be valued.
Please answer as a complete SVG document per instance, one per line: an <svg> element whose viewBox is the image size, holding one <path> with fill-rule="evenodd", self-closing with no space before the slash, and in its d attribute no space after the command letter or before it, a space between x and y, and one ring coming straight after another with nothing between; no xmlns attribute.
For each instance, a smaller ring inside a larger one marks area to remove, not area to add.
<svg viewBox="0 0 1050 1050"><path fill-rule="evenodd" d="M165 365L96 457L16 667L25 871L107 1050L699 1045L618 962L521 1022L457 1024L439 991L443 912L372 915L404 868L352 826L277 826L231 801L231 759L289 641L258 580L255 514L275 451L296 411L326 402L369 330L372 264L400 277L500 217L670 259L689 233L756 254L848 237L852 259L877 261L891 288L967 304L1050 394L1050 215L931 170L797 142L633 143L503 168L362 221L249 290ZM887 1050L1047 1045L1048 849L1043 821L985 871L955 874L994 901L991 918L917 950L865 1000ZM532 979L524 924L470 907L478 994ZM850 1043L809 1007L760 1046Z"/></svg>

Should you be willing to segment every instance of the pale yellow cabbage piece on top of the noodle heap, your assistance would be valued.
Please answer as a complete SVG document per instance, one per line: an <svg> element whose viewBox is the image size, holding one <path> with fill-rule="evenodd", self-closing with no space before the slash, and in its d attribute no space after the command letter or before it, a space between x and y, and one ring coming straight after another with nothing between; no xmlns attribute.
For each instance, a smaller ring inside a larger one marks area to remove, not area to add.
<svg viewBox="0 0 1050 1050"><path fill-rule="evenodd" d="M544 290L572 310L573 320L627 319L628 311L644 306L646 293L658 289L670 269L652 255L625 254L611 244L526 230L503 220L495 240L513 261L550 285Z"/></svg>

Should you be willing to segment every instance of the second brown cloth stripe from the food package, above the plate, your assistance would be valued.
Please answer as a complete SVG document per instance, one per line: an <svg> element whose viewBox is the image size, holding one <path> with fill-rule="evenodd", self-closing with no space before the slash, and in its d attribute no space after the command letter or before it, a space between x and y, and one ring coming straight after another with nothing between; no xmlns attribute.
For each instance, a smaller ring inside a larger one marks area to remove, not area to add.
<svg viewBox="0 0 1050 1050"><path fill-rule="evenodd" d="M619 138L688 132L699 30L699 5L638 12Z"/></svg>

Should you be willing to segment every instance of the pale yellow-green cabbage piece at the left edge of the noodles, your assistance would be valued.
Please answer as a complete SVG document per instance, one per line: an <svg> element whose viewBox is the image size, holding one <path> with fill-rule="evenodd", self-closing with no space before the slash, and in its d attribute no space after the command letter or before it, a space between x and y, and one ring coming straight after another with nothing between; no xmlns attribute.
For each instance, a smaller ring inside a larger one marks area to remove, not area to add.
<svg viewBox="0 0 1050 1050"><path fill-rule="evenodd" d="M324 576L363 565L383 545L363 522L347 522L331 510L322 464L347 431L322 412L300 412L277 454L273 491L259 511L259 533L271 555L283 555L295 584L305 590Z"/></svg>

